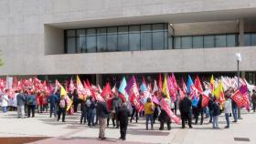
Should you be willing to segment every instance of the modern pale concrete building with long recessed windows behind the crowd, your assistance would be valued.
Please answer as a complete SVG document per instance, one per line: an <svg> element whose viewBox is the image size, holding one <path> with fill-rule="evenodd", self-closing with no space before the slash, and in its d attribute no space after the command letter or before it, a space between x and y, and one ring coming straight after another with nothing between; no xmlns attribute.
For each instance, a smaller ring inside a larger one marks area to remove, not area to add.
<svg viewBox="0 0 256 144"><path fill-rule="evenodd" d="M254 0L0 0L1 76L256 80Z"/></svg>

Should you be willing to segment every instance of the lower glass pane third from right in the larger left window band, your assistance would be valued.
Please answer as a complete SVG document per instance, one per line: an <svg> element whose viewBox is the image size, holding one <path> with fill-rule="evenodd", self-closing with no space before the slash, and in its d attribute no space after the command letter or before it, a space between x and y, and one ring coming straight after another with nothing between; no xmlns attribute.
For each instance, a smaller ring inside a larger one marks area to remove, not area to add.
<svg viewBox="0 0 256 144"><path fill-rule="evenodd" d="M131 51L140 50L141 36L140 33L129 34L129 45Z"/></svg>

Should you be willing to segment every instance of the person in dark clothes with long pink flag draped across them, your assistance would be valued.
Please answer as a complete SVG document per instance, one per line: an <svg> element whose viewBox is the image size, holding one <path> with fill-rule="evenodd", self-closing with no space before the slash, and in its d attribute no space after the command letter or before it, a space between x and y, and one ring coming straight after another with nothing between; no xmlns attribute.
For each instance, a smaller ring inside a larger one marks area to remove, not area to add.
<svg viewBox="0 0 256 144"><path fill-rule="evenodd" d="M169 98L167 98L164 94L161 94L163 98L161 99L160 103L162 103L162 100L165 100L165 102L171 107L171 101ZM167 115L164 108L161 108L161 113L159 115L158 120L160 121L160 128L159 130L164 130L164 124L167 124L167 129L171 129L171 118Z"/></svg>

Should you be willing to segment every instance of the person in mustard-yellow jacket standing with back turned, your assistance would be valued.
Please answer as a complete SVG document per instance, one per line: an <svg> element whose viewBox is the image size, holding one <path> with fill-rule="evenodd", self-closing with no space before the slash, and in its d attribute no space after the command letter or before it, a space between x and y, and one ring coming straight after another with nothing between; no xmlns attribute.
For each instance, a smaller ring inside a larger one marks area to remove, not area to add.
<svg viewBox="0 0 256 144"><path fill-rule="evenodd" d="M155 111L155 105L152 102L151 98L147 98L146 103L144 104L144 114L145 114L145 127L148 130L148 121L150 120L151 122L151 129L153 128L153 124L154 124L154 111Z"/></svg>

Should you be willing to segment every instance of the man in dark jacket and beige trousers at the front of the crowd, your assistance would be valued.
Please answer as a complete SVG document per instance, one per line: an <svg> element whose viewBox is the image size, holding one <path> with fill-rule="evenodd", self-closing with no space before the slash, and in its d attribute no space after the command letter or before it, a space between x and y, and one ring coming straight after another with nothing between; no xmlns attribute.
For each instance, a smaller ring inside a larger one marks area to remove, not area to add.
<svg viewBox="0 0 256 144"><path fill-rule="evenodd" d="M105 101L107 100L107 96L104 97L104 100ZM100 126L99 139L106 139L105 137L106 118L108 118L109 111L105 101L99 101L96 107L96 110L97 110L96 113L99 118L99 126Z"/></svg>

